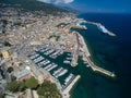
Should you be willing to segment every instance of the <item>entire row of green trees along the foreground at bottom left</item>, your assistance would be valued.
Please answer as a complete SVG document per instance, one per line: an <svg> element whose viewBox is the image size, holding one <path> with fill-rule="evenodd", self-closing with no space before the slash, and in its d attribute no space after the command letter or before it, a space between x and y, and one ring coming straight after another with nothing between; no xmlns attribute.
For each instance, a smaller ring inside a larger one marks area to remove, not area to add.
<svg viewBox="0 0 131 98"><path fill-rule="evenodd" d="M36 89L41 98L62 98L55 83L45 81L38 86L38 82L34 77L23 82L14 79L7 86L7 89L12 93L24 91L26 88Z"/></svg>

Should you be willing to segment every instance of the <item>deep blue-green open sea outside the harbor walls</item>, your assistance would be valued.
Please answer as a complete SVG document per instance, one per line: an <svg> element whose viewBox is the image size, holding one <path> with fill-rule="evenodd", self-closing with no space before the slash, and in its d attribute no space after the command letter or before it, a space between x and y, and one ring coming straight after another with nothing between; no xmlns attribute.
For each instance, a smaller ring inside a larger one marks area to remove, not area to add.
<svg viewBox="0 0 131 98"><path fill-rule="evenodd" d="M117 78L94 73L80 61L75 71L82 77L71 91L72 98L131 98L131 14L84 13L78 17L102 23L117 35L103 34L92 24L85 24L87 30L79 30L94 63L114 71Z"/></svg>

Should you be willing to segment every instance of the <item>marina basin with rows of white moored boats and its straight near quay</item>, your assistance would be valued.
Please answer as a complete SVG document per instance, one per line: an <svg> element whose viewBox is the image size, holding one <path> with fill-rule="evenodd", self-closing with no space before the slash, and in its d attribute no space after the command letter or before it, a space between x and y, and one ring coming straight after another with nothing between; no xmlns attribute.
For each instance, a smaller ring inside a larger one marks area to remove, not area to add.
<svg viewBox="0 0 131 98"><path fill-rule="evenodd" d="M81 76L69 71L67 68L67 65L71 66L70 61L72 60L72 54L66 53L62 61L63 65L58 62L58 58L61 56L64 57L64 53L61 50L55 50L51 47L43 47L41 49L29 53L28 58L38 68L46 70L57 82L59 82L64 98L69 98L71 89Z"/></svg>

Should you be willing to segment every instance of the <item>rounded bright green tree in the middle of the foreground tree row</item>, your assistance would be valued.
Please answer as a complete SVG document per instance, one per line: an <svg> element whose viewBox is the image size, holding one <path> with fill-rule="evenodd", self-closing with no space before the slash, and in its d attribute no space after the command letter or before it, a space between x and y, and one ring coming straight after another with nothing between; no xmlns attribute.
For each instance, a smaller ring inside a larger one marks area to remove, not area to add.
<svg viewBox="0 0 131 98"><path fill-rule="evenodd" d="M35 77L31 77L25 82L27 88L36 88L38 86L38 81Z"/></svg>

